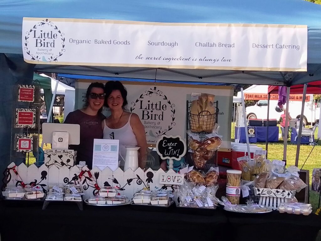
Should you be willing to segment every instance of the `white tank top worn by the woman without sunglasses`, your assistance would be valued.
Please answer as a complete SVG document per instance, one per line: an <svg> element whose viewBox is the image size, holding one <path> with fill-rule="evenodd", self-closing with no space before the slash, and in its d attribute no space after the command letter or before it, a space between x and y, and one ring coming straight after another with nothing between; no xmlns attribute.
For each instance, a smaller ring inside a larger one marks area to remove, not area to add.
<svg viewBox="0 0 321 241"><path fill-rule="evenodd" d="M125 146L137 146L136 136L133 132L132 127L130 126L130 114L127 123L118 129L111 129L106 125L104 126L104 139L115 139L119 140L119 154L125 159L126 158L126 148ZM120 166L124 166L123 158L119 155L119 160L121 160Z"/></svg>

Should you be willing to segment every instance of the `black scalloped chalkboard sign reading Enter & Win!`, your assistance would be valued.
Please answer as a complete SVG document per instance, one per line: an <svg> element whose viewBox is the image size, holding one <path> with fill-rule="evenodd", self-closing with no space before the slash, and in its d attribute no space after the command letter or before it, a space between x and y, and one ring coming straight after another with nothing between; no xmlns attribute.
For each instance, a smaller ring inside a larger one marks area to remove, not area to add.
<svg viewBox="0 0 321 241"><path fill-rule="evenodd" d="M186 153L186 144L180 136L162 135L156 143L156 151L163 160L179 161Z"/></svg>

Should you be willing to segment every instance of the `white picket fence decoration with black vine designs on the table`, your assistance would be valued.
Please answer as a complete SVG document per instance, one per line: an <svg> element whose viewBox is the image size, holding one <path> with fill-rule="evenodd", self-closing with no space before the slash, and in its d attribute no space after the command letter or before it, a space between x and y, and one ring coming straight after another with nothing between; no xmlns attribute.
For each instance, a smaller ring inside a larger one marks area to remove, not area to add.
<svg viewBox="0 0 321 241"><path fill-rule="evenodd" d="M16 166L13 162L8 165L8 169ZM77 166L68 168L66 166L57 167L50 166L49 169L45 165L41 165L37 168L36 165L30 165L27 167L25 164L20 164L15 167L18 172L17 176L13 169L9 172L11 174L10 180L7 186L15 186L17 182L22 181L27 186L30 183L42 185L44 189L48 190L50 185L65 186L67 183L80 183L82 185L84 198L88 198L93 195L93 192L98 192L95 188L95 184L99 187L103 186L117 186L121 195L126 195L129 199L133 198L134 193L140 191L149 186L151 191L160 190L164 187L164 184L160 184L160 175L164 174L164 170L159 169L157 171L149 168L145 172L138 168L135 172L132 169L127 169L125 172L117 168L114 172L106 167L104 170L100 170L96 166L92 170L88 170L87 167L80 169ZM81 178L79 174L85 171ZM90 171L92 177L89 177ZM175 173L173 170L169 170L167 173ZM87 177L87 178L86 178ZM96 179L96 177L98 177ZM8 177L9 178L9 177ZM97 186L96 185L96 186ZM174 189L174 195L176 195L176 186L166 186L167 190Z"/></svg>

